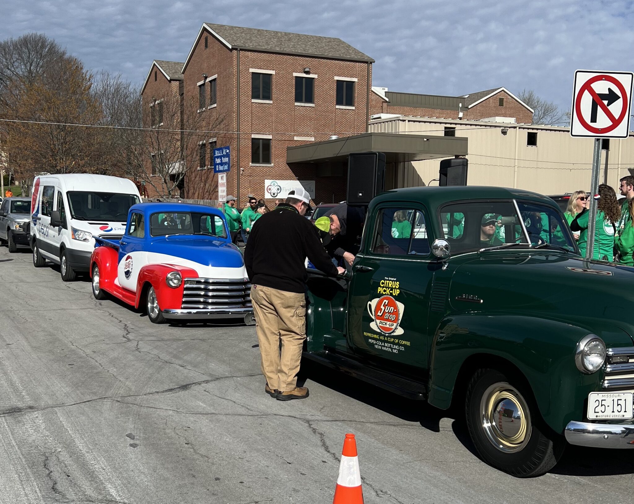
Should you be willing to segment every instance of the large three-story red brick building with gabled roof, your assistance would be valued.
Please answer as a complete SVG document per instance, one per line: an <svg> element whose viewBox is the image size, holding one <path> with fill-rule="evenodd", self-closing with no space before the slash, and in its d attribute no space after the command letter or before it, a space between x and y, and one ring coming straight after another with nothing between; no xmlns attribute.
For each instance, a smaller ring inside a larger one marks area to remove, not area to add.
<svg viewBox="0 0 634 504"><path fill-rule="evenodd" d="M183 117L195 102L196 134L183 148L198 165L186 171L186 198L217 198L212 151L230 146L227 193L240 206L248 194L273 197L265 180L309 181L316 202L338 201L345 174L289 165L287 147L366 132L373 62L340 39L203 23L179 75L153 61L144 114L176 84Z"/></svg>

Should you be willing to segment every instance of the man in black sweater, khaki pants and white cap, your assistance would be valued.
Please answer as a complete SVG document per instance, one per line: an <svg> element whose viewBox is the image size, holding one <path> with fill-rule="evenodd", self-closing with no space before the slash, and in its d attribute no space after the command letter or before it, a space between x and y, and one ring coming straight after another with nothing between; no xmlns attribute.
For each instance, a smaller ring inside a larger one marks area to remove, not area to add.
<svg viewBox="0 0 634 504"><path fill-rule="evenodd" d="M328 275L344 273L332 264L317 229L304 217L309 201L303 189L290 191L285 203L258 219L244 251L264 391L280 401L308 397L306 387L297 387L306 339L306 257Z"/></svg>

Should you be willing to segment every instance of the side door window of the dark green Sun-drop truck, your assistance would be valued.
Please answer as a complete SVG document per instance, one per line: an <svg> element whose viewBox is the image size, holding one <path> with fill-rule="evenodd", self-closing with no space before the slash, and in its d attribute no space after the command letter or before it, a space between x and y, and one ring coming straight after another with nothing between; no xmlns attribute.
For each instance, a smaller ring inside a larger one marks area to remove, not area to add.
<svg viewBox="0 0 634 504"><path fill-rule="evenodd" d="M429 255L425 217L420 210L382 209L372 240L373 254Z"/></svg>

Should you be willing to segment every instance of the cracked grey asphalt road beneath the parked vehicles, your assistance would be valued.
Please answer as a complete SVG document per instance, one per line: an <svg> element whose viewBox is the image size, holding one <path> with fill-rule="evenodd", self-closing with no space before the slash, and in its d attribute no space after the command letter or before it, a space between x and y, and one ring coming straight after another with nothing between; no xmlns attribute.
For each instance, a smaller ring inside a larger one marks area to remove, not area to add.
<svg viewBox="0 0 634 504"><path fill-rule="evenodd" d="M157 326L86 281L0 248L0 503L330 503L344 434L366 503L611 503L633 451L569 448L519 480L472 452L460 415L319 367L264 394L254 327Z"/></svg>

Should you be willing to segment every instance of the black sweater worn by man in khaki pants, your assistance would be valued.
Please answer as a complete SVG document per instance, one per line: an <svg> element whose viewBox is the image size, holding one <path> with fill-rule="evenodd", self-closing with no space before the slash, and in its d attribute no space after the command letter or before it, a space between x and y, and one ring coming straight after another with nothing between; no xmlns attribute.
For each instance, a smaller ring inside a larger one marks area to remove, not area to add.
<svg viewBox="0 0 634 504"><path fill-rule="evenodd" d="M327 275L337 275L317 228L285 203L257 219L244 250L251 283L287 292L306 290L306 257Z"/></svg>

